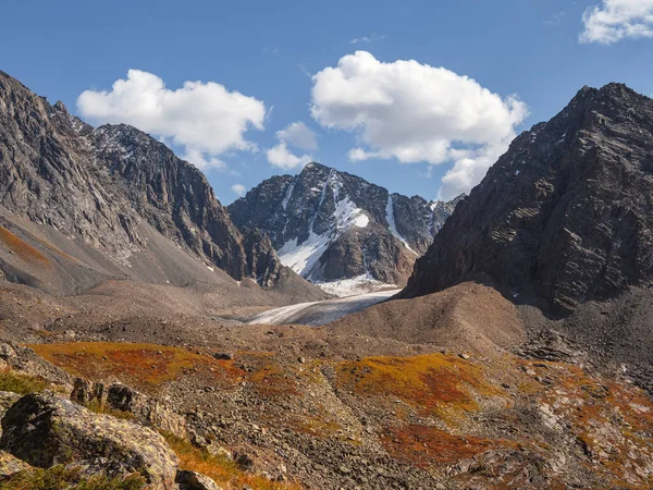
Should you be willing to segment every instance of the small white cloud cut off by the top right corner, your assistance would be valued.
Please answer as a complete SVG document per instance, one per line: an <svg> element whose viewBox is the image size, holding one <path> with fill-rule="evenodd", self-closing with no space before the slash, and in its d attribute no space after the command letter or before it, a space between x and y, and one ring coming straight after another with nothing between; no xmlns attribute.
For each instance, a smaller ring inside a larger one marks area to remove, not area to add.
<svg viewBox="0 0 653 490"><path fill-rule="evenodd" d="M653 37L653 0L603 0L582 14L581 42L612 45L621 39Z"/></svg>

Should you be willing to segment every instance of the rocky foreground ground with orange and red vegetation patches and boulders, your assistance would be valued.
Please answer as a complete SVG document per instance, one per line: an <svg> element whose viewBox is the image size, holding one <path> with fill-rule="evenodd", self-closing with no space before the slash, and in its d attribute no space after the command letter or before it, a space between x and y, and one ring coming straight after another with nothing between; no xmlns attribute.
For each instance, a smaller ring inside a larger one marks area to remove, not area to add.
<svg viewBox="0 0 653 490"><path fill-rule="evenodd" d="M653 403L627 369L602 373L554 331L523 347L515 306L478 284L398 302L431 318L407 317L405 339L371 330L387 305L328 328L215 328L185 347L116 342L139 334L120 319L75 332L64 315L39 343L2 347L0 390L20 392L1 395L2 485L44 471L123 486L108 488L653 485Z"/></svg>

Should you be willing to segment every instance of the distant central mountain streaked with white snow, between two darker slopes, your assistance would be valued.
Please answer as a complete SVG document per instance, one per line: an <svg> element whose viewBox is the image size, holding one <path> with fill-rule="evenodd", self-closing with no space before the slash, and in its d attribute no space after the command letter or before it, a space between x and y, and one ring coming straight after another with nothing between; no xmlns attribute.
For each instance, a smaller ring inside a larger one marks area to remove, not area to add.
<svg viewBox="0 0 653 490"><path fill-rule="evenodd" d="M429 203L390 194L312 162L296 176L263 181L227 209L238 229L270 235L282 264L310 281L346 289L405 284L461 197Z"/></svg>

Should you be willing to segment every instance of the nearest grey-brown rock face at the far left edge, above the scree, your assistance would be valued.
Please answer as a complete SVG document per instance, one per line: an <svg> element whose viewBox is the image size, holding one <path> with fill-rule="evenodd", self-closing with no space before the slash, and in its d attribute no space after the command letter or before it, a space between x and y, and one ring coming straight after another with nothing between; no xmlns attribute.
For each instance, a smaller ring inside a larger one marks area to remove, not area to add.
<svg viewBox="0 0 653 490"><path fill-rule="evenodd" d="M140 245L138 218L90 172L86 126L62 107L0 72L0 205L115 255Z"/></svg>

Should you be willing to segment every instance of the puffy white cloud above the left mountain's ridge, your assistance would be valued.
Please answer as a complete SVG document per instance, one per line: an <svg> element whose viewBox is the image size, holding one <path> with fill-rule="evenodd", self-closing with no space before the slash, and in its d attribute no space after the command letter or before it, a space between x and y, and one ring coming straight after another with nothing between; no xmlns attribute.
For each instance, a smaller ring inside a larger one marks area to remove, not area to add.
<svg viewBox="0 0 653 490"><path fill-rule="evenodd" d="M220 155L256 150L245 138L263 128L266 106L254 97L230 91L214 82L185 82L171 90L163 81L140 70L111 90L86 90L77 98L79 113L98 123L127 123L169 138L185 148L188 161L201 169L224 168Z"/></svg>

